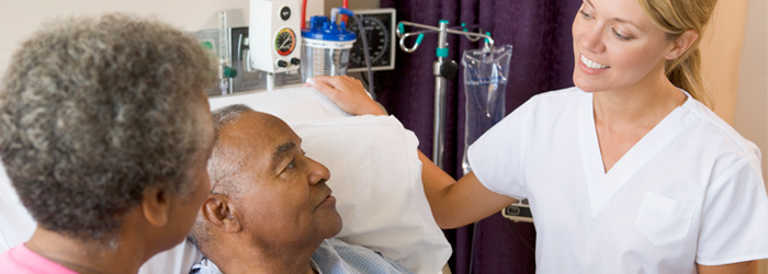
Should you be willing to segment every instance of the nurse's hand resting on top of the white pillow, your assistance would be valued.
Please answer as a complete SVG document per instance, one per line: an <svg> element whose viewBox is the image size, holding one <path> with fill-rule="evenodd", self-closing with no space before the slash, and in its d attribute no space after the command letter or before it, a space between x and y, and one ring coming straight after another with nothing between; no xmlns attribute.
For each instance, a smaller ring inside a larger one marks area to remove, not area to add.
<svg viewBox="0 0 768 274"><path fill-rule="evenodd" d="M348 76L317 76L307 79L304 87L314 87L349 114L386 115L384 109L371 99L358 79Z"/></svg>

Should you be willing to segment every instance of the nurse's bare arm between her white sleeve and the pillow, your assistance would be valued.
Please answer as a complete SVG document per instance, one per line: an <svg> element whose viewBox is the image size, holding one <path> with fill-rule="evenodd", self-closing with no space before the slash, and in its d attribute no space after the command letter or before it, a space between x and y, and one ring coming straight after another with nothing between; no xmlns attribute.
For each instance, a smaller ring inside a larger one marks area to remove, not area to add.
<svg viewBox="0 0 768 274"><path fill-rule="evenodd" d="M473 172L456 182L421 151L419 160L423 191L440 228L456 228L478 221L516 202L512 197L486 189Z"/></svg>

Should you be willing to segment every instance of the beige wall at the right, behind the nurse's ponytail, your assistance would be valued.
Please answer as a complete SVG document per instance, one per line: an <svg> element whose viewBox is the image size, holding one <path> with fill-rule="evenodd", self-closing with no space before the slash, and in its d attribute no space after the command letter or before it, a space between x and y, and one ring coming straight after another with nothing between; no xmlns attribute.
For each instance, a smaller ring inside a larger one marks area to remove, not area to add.
<svg viewBox="0 0 768 274"><path fill-rule="evenodd" d="M720 0L715 39L702 53L704 72L713 89L725 89L715 92L715 112L760 148L763 178L768 179L768 0L744 2ZM734 50L742 41L738 58ZM766 260L758 273L768 274Z"/></svg>

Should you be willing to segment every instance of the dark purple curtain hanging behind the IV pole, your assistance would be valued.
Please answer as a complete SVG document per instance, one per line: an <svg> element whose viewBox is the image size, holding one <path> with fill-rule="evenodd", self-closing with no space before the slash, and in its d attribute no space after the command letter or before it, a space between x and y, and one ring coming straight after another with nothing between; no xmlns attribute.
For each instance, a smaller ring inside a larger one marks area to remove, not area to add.
<svg viewBox="0 0 768 274"><path fill-rule="evenodd" d="M478 24L492 33L497 45L511 44L507 113L537 93L573 85L571 24L580 4L581 0L381 0L383 8L397 10L398 21ZM482 46L456 35L449 35L448 42L449 58L460 65L463 50ZM395 70L375 75L379 101L416 133L419 149L427 156L432 151L436 46L437 35L427 35L414 54L396 49ZM456 178L461 176L464 152L462 73L460 69L447 89L445 171ZM535 272L534 253L527 246L535 248L531 224L510 224L496 214L445 233L454 248L449 263L453 273Z"/></svg>

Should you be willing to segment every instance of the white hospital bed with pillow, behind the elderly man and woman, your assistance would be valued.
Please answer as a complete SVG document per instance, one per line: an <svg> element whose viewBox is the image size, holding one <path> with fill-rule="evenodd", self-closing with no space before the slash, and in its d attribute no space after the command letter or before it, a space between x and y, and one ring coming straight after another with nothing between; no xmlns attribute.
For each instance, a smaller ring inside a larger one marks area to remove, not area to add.
<svg viewBox="0 0 768 274"><path fill-rule="evenodd" d="M246 104L284 119L307 156L331 171L328 185L343 220L338 238L369 247L415 273L440 273L451 247L421 185L418 140L391 116L350 116L310 88L210 100L211 109ZM35 222L0 165L0 253L25 242ZM142 274L189 273L200 252L183 242L150 259Z"/></svg>

